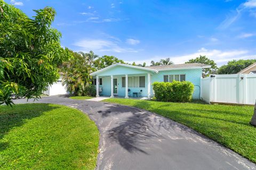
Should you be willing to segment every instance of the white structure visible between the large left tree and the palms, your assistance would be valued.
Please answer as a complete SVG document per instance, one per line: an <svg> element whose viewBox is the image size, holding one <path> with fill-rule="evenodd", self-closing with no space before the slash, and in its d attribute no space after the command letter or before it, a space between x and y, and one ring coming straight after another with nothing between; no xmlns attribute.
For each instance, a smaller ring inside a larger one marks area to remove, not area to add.
<svg viewBox="0 0 256 170"><path fill-rule="evenodd" d="M57 82L54 82L51 86L49 85L47 90L43 92L44 95L66 95L68 94L66 86L62 85L63 73L60 73L60 78Z"/></svg>

